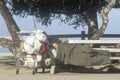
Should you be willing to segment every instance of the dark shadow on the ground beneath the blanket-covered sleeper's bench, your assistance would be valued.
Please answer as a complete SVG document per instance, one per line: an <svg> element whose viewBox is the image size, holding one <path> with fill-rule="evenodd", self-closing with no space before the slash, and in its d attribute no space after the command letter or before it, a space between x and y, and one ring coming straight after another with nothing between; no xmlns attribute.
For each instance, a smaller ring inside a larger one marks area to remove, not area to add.
<svg viewBox="0 0 120 80"><path fill-rule="evenodd" d="M120 73L120 68L116 68L113 65L109 65L100 69L76 67L76 66L62 66L57 69L57 73L70 72L70 73L97 73L97 74L116 74Z"/></svg>

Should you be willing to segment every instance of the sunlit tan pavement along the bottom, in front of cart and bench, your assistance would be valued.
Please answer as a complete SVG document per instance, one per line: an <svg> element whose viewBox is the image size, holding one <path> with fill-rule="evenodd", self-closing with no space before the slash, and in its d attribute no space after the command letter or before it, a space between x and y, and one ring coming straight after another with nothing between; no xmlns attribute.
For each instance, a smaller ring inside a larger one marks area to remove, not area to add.
<svg viewBox="0 0 120 80"><path fill-rule="evenodd" d="M84 69L81 72L60 71L57 74L38 73L32 75L31 69L21 68L18 75L15 74L15 65L12 62L0 63L0 80L120 80L120 71L99 72Z"/></svg>

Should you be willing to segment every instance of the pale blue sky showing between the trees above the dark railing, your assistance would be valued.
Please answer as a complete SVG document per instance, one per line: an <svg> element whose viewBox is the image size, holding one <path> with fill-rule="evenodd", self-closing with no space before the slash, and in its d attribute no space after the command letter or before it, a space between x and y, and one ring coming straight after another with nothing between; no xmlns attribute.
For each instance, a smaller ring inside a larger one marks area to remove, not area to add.
<svg viewBox="0 0 120 80"><path fill-rule="evenodd" d="M17 25L21 30L33 31L34 30L34 21L32 16L26 18L20 18L13 16ZM105 34L120 34L120 9L112 9L108 15L109 23L105 31ZM101 16L98 15L99 27L101 26ZM36 23L37 28L44 30L48 35L54 34L80 34L81 31L86 31L85 28L79 27L77 30L73 26L68 26L67 24L60 23L58 20L55 20L49 27L42 26L40 23ZM0 15L0 36L9 36L4 19Z"/></svg>

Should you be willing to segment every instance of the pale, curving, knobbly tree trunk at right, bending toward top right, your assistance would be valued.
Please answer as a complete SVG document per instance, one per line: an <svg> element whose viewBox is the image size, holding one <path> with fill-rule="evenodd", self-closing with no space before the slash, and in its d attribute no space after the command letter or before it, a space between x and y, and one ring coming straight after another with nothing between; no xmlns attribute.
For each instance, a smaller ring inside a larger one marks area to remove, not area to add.
<svg viewBox="0 0 120 80"><path fill-rule="evenodd" d="M90 38L90 39L98 39L99 37L101 37L106 28L107 28L107 24L108 24L108 14L110 12L110 10L115 6L116 0L109 0L108 5L101 10L101 15L102 15L102 26L101 28L95 32L95 34Z"/></svg>

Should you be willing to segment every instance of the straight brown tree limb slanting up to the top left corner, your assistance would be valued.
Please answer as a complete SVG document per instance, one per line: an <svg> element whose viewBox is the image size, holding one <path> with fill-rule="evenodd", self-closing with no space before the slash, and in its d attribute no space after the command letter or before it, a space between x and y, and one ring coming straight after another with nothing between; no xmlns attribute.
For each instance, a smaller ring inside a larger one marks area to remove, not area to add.
<svg viewBox="0 0 120 80"><path fill-rule="evenodd" d="M11 13L9 9L6 7L3 0L0 0L0 13L5 20L8 31L10 32L13 41L17 43L16 45L18 45L20 43L20 39L16 32L20 31L20 29L15 23L14 19L12 18Z"/></svg>

